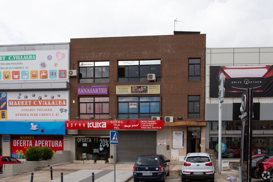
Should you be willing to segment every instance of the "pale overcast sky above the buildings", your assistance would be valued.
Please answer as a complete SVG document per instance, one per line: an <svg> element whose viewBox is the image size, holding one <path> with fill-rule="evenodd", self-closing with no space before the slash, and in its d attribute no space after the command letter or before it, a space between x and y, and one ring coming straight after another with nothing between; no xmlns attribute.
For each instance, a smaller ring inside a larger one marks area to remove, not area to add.
<svg viewBox="0 0 273 182"><path fill-rule="evenodd" d="M207 47L273 46L272 0L2 0L0 45L206 34Z"/></svg>

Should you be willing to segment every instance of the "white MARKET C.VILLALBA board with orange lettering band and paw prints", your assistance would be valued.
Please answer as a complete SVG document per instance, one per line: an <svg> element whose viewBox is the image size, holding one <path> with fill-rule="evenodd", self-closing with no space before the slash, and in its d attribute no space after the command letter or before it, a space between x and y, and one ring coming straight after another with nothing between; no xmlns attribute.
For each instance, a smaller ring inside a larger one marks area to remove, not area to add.
<svg viewBox="0 0 273 182"><path fill-rule="evenodd" d="M0 120L69 119L68 91L4 93L0 103L5 100L5 117Z"/></svg>

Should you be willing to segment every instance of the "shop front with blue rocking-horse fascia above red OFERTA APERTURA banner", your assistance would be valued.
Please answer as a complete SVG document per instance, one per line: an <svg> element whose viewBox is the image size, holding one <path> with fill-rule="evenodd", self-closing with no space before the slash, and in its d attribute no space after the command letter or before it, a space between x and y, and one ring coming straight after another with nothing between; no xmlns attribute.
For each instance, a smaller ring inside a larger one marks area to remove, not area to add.
<svg viewBox="0 0 273 182"><path fill-rule="evenodd" d="M1 126L0 133L5 136L3 155L25 158L29 147L49 147L54 154L58 150L64 150L64 122L3 121Z"/></svg>

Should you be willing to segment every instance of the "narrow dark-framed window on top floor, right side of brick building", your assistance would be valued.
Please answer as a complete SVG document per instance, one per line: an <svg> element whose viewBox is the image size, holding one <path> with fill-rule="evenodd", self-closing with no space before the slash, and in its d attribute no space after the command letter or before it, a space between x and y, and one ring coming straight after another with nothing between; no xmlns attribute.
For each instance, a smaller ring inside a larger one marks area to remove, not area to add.
<svg viewBox="0 0 273 182"><path fill-rule="evenodd" d="M188 80L200 81L201 59L188 59Z"/></svg>

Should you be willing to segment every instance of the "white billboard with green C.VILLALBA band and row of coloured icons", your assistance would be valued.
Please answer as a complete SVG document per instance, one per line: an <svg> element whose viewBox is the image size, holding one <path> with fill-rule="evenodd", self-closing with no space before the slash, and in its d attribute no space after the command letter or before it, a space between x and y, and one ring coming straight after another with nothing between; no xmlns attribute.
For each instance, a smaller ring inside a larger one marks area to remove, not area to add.
<svg viewBox="0 0 273 182"><path fill-rule="evenodd" d="M0 81L68 80L68 50L0 52Z"/></svg>

